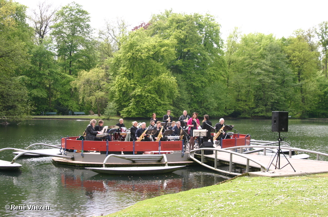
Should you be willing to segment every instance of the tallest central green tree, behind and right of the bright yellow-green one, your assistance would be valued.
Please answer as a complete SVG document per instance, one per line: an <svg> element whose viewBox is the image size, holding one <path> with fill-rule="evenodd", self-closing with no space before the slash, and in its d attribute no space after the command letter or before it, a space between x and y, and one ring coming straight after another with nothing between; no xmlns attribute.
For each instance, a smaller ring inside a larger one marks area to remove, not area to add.
<svg viewBox="0 0 328 217"><path fill-rule="evenodd" d="M219 114L223 107L215 90L224 79L226 63L223 59L220 26L211 15L177 14L165 11L154 15L147 27L151 35L176 41L175 59L168 68L179 79L178 94L173 106L198 113ZM207 103L211 100L212 103ZM215 104L216 102L216 104Z"/></svg>

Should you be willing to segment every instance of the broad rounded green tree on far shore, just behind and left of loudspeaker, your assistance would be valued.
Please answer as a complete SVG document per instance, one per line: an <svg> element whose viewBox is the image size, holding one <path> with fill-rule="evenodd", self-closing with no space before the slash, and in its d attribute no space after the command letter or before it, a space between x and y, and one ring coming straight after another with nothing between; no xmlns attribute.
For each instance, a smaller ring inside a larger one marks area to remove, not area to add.
<svg viewBox="0 0 328 217"><path fill-rule="evenodd" d="M234 115L270 116L288 108L292 75L281 43L261 33L229 37L227 62Z"/></svg>

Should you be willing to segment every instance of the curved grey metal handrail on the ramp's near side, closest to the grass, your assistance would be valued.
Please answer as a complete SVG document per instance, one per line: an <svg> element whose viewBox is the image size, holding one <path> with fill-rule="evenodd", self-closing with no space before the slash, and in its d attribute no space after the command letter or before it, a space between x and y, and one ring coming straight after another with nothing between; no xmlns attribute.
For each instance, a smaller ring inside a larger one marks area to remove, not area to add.
<svg viewBox="0 0 328 217"><path fill-rule="evenodd" d="M194 157L194 152L195 151L199 151L201 150L201 161L197 160L195 157ZM211 150L211 151L215 151L215 162L214 162L214 167L213 166L210 166L210 165L207 165L205 164L203 161L204 159L204 150ZM230 162L229 162L229 172L228 171L224 171L224 170L220 170L217 168L217 152L225 152L225 153L229 153L230 154ZM237 152L232 152L232 151L228 151L228 150L224 150L224 149L216 149L216 148L201 148L201 149L195 149L195 150L191 150L190 153L189 153L189 157L196 161L197 163L203 165L203 166L206 166L208 168L210 168L211 170L214 170L214 171L217 171L217 172L220 172L220 173L226 173L226 174L230 174L230 175L234 175L234 176L238 176L240 175L240 173L233 173L232 172L232 164L233 164L233 160L232 160L232 156L233 155L238 155L240 157L243 157L243 158L246 158L246 172L250 172L250 161L253 161L254 163L258 164L260 167L261 167L261 171L267 171L268 170L268 167L266 165L264 165L263 163L255 160L255 159L252 159L250 156L247 156L247 155L244 155L244 154L239 154Z"/></svg>

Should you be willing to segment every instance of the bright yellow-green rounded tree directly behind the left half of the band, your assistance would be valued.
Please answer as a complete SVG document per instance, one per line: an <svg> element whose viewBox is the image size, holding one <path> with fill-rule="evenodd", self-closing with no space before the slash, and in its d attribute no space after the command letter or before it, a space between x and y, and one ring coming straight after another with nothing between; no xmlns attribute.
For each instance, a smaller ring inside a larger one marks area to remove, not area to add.
<svg viewBox="0 0 328 217"><path fill-rule="evenodd" d="M144 29L130 32L114 54L111 98L124 117L146 117L172 107L177 84L167 65L174 58L174 40L150 37Z"/></svg>

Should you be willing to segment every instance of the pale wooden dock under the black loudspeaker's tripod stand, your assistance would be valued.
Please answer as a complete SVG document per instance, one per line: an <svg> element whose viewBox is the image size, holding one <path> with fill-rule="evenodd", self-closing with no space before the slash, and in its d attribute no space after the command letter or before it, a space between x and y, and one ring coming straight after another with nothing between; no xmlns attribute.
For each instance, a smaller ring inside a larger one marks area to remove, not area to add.
<svg viewBox="0 0 328 217"><path fill-rule="evenodd" d="M275 168L277 157L274 159L274 156L263 156L256 154L244 154L247 156L251 156L256 161L261 162L262 164L269 167L269 171L260 171L260 165L250 161L250 167L254 168L258 172L249 172L251 177L256 176L266 176L266 177L288 177L288 176L303 176L309 174L320 174L320 173L328 173L328 161L320 161L320 160L309 160L309 159L294 159L288 158L290 164L285 159L283 155L280 155L280 167L277 165ZM213 155L204 155L205 158L209 161L213 161L215 159ZM230 154L224 152L218 152L217 159L221 164L228 164L230 162ZM246 167L246 159L237 155L234 155L233 163L235 167ZM273 164L271 162L273 161ZM287 164L287 165L286 165ZM292 167L293 166L293 167ZM280 169L279 169L280 168ZM293 168L296 172L294 172Z"/></svg>

